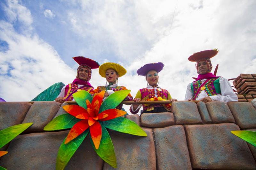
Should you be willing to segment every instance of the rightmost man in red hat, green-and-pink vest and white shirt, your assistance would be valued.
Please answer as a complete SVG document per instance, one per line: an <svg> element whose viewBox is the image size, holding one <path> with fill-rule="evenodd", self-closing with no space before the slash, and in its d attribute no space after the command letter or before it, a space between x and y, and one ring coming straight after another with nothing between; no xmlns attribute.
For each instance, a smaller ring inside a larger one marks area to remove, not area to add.
<svg viewBox="0 0 256 170"><path fill-rule="evenodd" d="M212 63L210 58L217 55L217 49L205 50L188 57L191 62L196 62L198 77L187 86L185 100L208 101L237 101L230 83L226 78L216 77L211 73Z"/></svg>

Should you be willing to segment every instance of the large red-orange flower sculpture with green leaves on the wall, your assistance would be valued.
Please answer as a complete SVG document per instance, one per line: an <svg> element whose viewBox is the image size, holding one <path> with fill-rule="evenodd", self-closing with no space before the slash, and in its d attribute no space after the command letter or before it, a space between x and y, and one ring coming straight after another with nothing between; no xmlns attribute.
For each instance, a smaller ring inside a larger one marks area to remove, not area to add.
<svg viewBox="0 0 256 170"><path fill-rule="evenodd" d="M44 127L44 130L71 128L68 136L60 145L56 169L65 168L88 133L90 133L90 141L96 153L113 167L117 167L116 155L106 128L137 136L147 136L135 122L120 117L126 114L125 111L115 109L129 92L130 90L114 92L104 101L105 91L94 95L93 98L84 90L73 94L79 106L63 106L68 114L56 117Z"/></svg>

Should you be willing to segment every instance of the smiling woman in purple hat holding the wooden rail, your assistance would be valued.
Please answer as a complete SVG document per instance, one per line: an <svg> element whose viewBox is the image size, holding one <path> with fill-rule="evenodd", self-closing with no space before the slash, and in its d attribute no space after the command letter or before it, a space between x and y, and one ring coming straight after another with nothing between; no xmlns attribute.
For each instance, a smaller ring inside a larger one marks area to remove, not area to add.
<svg viewBox="0 0 256 170"><path fill-rule="evenodd" d="M149 63L137 70L137 73L141 76L146 76L148 82L148 87L140 89L134 101L138 102L140 100L171 100L177 101L177 99L172 99L170 93L162 89L158 83L158 73L163 69L163 63ZM137 114L140 110L140 107L143 107L142 113L160 113L167 112L171 109L171 104L133 104L130 107L130 112L132 114Z"/></svg>

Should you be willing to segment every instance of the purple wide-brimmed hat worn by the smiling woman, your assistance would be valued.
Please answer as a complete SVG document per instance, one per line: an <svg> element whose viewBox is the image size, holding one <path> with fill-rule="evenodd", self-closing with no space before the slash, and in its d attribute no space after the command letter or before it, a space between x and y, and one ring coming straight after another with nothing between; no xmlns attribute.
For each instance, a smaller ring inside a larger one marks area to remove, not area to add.
<svg viewBox="0 0 256 170"><path fill-rule="evenodd" d="M142 67L140 67L138 70L137 70L137 73L140 75L140 76L146 76L148 71L150 70L156 70L156 72L160 72L161 70L163 70L163 67L164 67L164 64L163 63L148 63L148 64L145 64L143 65Z"/></svg>

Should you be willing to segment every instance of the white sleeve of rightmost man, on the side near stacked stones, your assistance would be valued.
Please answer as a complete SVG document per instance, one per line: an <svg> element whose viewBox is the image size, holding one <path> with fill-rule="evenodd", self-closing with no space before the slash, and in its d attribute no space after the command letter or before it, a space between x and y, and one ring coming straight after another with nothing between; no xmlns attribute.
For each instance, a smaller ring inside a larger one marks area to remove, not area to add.
<svg viewBox="0 0 256 170"><path fill-rule="evenodd" d="M224 102L229 102L229 101L237 101L237 95L234 93L230 83L226 78L220 78L220 91L221 95L217 94L214 96L210 96L212 101L224 101Z"/></svg>

